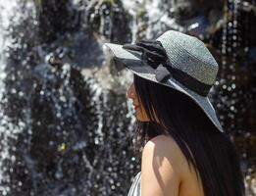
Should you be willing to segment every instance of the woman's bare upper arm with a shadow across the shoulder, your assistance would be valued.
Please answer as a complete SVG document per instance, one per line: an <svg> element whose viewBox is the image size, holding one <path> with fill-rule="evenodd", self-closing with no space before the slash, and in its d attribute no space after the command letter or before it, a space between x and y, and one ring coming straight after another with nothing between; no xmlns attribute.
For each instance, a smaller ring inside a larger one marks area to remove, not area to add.
<svg viewBox="0 0 256 196"><path fill-rule="evenodd" d="M179 157L173 139L159 135L149 140L142 151L141 196L179 195Z"/></svg>

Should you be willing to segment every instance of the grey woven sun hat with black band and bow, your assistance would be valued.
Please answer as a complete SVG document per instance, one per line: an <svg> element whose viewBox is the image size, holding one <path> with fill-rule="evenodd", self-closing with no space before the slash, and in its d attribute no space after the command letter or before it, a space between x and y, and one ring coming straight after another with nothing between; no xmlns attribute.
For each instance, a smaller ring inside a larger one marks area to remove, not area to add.
<svg viewBox="0 0 256 196"><path fill-rule="evenodd" d="M156 40L106 45L113 52L115 62L125 65L136 75L188 95L216 127L224 131L207 97L214 85L219 66L201 40L168 30ZM154 114L150 110L146 112L149 112L147 115L150 112Z"/></svg>

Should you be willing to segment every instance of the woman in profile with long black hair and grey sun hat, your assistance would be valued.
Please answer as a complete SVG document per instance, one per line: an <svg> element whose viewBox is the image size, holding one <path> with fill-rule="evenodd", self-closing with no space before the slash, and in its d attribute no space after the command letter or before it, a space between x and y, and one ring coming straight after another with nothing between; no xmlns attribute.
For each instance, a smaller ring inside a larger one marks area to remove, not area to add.
<svg viewBox="0 0 256 196"><path fill-rule="evenodd" d="M218 64L199 39L106 44L134 73L128 88L143 146L128 196L242 196L239 159L207 95Z"/></svg>

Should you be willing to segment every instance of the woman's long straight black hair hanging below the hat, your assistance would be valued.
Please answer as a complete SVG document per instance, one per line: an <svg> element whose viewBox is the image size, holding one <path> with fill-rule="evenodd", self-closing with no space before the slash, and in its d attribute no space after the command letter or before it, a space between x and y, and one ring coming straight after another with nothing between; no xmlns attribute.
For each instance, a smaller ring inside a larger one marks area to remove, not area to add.
<svg viewBox="0 0 256 196"><path fill-rule="evenodd" d="M200 175L205 196L243 196L239 156L229 135L215 127L204 112L179 91L136 74L133 81L139 102L151 120L137 122L136 144L142 147L154 136L171 135L189 169L195 169L197 179Z"/></svg>

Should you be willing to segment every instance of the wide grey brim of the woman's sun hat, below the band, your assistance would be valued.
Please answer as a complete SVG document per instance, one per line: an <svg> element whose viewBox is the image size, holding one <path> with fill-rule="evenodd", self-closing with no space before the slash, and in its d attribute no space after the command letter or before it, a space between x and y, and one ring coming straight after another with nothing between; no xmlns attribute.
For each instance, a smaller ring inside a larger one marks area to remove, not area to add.
<svg viewBox="0 0 256 196"><path fill-rule="evenodd" d="M120 44L105 43L104 45L110 48L114 54L115 60L122 63L129 71L145 79L160 83L156 79L154 69L148 66L147 63L140 58L140 55L123 49L123 45ZM220 131L224 132L224 129L217 118L215 109L208 97L201 96L198 93L188 89L174 77L171 77L165 83L161 82L160 84L169 86L190 97L203 110L211 122L214 123L214 125Z"/></svg>

